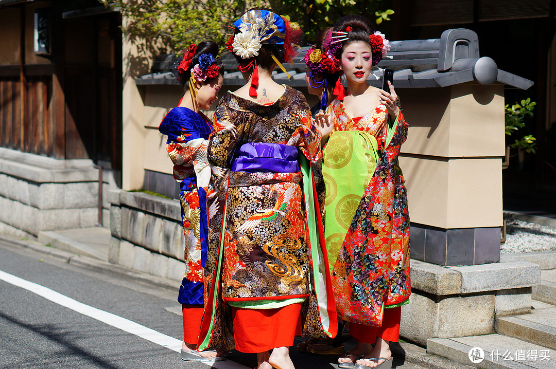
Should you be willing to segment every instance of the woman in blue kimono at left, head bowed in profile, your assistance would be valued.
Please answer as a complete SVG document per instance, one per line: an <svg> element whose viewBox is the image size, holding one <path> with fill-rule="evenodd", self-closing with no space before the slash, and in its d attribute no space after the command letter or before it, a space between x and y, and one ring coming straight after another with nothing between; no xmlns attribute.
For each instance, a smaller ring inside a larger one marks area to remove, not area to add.
<svg viewBox="0 0 556 369"><path fill-rule="evenodd" d="M185 94L178 107L166 114L158 130L167 135L166 149L172 159L173 176L180 184L181 217L185 235L185 275L178 293L182 304L183 342L181 357L188 361L224 360L221 353L198 353L197 340L203 313L203 266L207 252L206 192L210 180L207 144L212 123L201 109L209 110L222 87L224 67L215 60L218 46L203 41L184 50L176 79Z"/></svg>

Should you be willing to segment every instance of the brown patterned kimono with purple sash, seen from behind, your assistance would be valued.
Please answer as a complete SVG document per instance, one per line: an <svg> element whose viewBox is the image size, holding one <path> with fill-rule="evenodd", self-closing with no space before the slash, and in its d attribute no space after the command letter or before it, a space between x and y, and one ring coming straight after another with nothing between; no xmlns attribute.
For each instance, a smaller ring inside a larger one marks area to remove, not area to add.
<svg viewBox="0 0 556 369"><path fill-rule="evenodd" d="M304 335L336 334L319 210L321 136L310 117L305 97L287 86L271 105L228 92L216 108L199 350L234 348L230 305L302 302Z"/></svg>

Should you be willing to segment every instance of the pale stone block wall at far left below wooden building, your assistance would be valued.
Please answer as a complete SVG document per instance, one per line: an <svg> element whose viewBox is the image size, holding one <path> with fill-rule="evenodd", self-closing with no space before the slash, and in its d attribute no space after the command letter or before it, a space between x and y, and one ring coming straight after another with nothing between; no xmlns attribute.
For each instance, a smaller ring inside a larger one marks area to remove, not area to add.
<svg viewBox="0 0 556 369"><path fill-rule="evenodd" d="M0 148L0 231L36 236L97 225L98 175L92 160L57 160ZM108 183L103 188L108 190ZM108 225L108 219L105 206L103 223Z"/></svg>

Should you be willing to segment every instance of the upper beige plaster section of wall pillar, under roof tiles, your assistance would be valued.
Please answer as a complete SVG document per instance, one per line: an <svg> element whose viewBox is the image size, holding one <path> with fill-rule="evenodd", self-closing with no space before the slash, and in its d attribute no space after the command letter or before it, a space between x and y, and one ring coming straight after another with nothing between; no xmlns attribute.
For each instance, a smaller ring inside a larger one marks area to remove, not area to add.
<svg viewBox="0 0 556 369"><path fill-rule="evenodd" d="M406 154L444 158L504 156L504 86L459 84L403 89Z"/></svg>

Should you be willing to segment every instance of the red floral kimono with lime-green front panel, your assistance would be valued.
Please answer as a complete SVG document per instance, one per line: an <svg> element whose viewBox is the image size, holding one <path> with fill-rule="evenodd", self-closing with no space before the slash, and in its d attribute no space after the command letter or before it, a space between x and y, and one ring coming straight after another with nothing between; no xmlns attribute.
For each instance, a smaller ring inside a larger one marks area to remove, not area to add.
<svg viewBox="0 0 556 369"><path fill-rule="evenodd" d="M334 100L324 150L326 244L342 319L380 326L384 308L404 305L409 279L409 213L398 165L408 124L380 104L352 119Z"/></svg>

